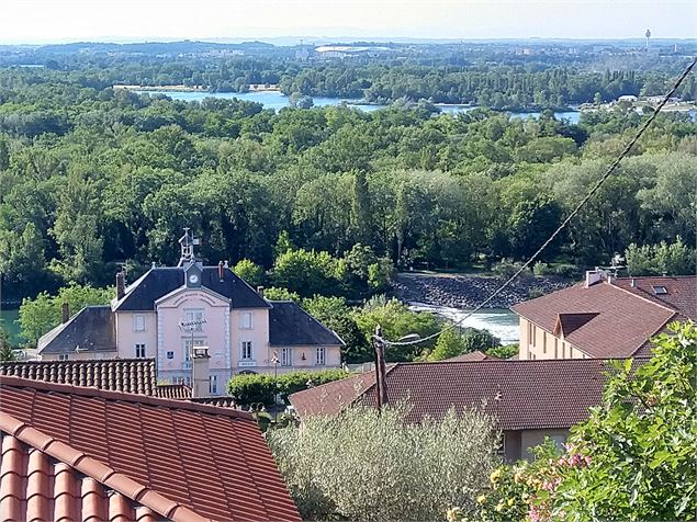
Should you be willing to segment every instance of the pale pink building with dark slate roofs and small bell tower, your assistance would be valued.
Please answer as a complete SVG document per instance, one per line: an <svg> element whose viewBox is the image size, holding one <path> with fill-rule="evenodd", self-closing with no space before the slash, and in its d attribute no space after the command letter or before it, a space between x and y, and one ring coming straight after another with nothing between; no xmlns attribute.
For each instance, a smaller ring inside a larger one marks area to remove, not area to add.
<svg viewBox="0 0 697 522"><path fill-rule="evenodd" d="M337 368L339 337L293 302L269 300L226 263L204 266L196 240L179 240L178 266L153 266L130 286L116 275L111 305L88 306L37 344L46 360L144 359L157 377L194 386L194 348L206 348L212 395L238 373Z"/></svg>

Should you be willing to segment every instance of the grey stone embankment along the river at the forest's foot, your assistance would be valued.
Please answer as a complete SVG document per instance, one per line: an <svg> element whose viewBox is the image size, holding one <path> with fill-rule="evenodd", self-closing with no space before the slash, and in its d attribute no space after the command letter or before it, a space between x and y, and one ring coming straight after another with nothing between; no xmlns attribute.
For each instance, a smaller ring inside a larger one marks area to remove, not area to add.
<svg viewBox="0 0 697 522"><path fill-rule="evenodd" d="M400 273L394 281L394 294L409 303L425 303L450 308L474 308L498 288L505 279L482 275ZM557 276L518 279L498 294L487 308L509 308L513 305L549 294L573 282Z"/></svg>

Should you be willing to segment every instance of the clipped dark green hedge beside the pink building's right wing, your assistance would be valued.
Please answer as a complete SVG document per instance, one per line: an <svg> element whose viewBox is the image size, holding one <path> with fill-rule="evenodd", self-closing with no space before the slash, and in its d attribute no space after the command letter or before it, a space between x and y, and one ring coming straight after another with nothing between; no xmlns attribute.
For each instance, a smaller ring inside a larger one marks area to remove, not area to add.
<svg viewBox="0 0 697 522"><path fill-rule="evenodd" d="M278 393L285 404L289 404L288 396L303 389L307 389L307 382L313 385L329 383L348 377L349 372L344 370L322 370L319 372L290 372L278 376ZM227 392L235 397L240 406L251 406L254 404L273 405L273 395L277 383L273 375L269 374L244 374L235 375L227 384Z"/></svg>

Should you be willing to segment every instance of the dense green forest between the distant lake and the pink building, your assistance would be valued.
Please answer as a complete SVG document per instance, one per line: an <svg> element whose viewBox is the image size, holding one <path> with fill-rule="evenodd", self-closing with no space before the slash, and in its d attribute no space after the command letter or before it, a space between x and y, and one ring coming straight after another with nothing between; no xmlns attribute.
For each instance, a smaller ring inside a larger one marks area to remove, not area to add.
<svg viewBox="0 0 697 522"><path fill-rule="evenodd" d="M265 271L283 234L306 256L339 260L360 243L397 269L522 260L647 117L628 107L583 113L577 125L424 106L276 113L14 69L0 71L0 272L15 298L104 286L124 262L134 275L172 264L186 226L209 262L249 259ZM688 115L661 115L541 261L604 264L677 236L694 245L696 132Z"/></svg>

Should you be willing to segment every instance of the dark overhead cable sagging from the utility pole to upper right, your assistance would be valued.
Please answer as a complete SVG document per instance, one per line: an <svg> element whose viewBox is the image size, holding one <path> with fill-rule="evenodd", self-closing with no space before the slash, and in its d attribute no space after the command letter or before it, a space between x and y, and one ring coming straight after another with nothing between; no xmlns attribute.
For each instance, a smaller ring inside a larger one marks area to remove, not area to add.
<svg viewBox="0 0 697 522"><path fill-rule="evenodd" d="M629 151L632 149L632 147L637 144L637 141L639 140L641 135L644 133L644 130L647 130L647 128L649 128L649 126L656 118L656 116L659 115L659 113L661 112L663 106L668 102L671 97L673 97L675 91L681 87L681 84L683 83L683 80L685 80L687 75L690 73L690 71L695 67L695 64L697 64L697 56L695 58L693 58L693 61L687 66L687 68L683 71L683 73L679 76L679 78L675 81L675 83L673 84L671 90L667 92L667 94L665 94L665 97L663 98L661 103L659 103L659 105L656 106L656 109L653 112L653 114L651 115L651 117L649 117L649 120L647 120L644 122L644 124L641 126L639 132L627 144L625 149L617 157L617 159L612 162L612 164L610 164L610 167L607 169L607 171L605 171L605 173L598 179L598 181L595 183L595 185L593 185L593 189L591 189L591 191L584 196L584 198L581 200L581 202L578 202L576 207L566 216L566 218L562 222L562 224L559 226L559 228L557 228L557 230L554 230L552 232L552 235L549 237L549 239L547 241L544 241L542 243L542 246L530 257L530 259L528 259L516 271L516 273L514 273L510 277L508 277L508 280L506 282L504 282L504 284L502 284L498 288L496 288L496 291L494 291L486 299L484 299L482 303L480 303L474 309L472 309L468 314L465 314L464 317L458 319L454 322L449 324L447 327L442 328L440 331L438 331L436 333L431 333L430 336L427 336L427 337L424 337L421 339L414 340L414 341L389 341L386 339L382 339L382 342L384 342L386 345L391 345L391 347L407 347L407 345L418 344L418 343L421 343L421 342L429 341L429 340L431 340L434 338L437 338L441 333L443 333L443 332L446 332L446 331L459 326L460 324L462 324L468 318L472 317L472 315L476 314L479 310L484 308L487 304L490 304L494 299L494 297L496 297L504 290L506 290L516 279L518 279L518 276L528 266L530 266L530 264L532 264L532 262L538 258L538 256L542 252L542 250L544 250L557 238L557 236L559 236L561 234L561 231L566 227L566 225L569 225L569 223L576 216L576 214L578 214L578 212L581 212L581 209L586 205L586 203L588 203L588 201L595 195L595 193L598 192L600 186L603 186L603 183L605 183L607 181L607 179L610 175L612 175L612 173L615 172L615 170L619 166L620 161L622 161L622 159L625 159L625 157L629 154Z"/></svg>

